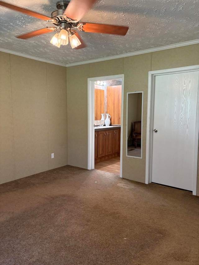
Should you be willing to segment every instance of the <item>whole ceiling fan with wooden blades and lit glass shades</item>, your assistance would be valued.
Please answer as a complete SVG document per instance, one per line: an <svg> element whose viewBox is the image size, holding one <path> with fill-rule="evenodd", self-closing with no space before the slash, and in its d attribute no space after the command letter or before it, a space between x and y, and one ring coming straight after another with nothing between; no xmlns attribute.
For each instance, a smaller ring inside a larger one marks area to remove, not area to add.
<svg viewBox="0 0 199 265"><path fill-rule="evenodd" d="M117 26L117 25L107 25L107 24L97 24L97 23L87 23L80 22L81 18L89 11L89 9L94 5L96 0L71 0L71 1L58 1L57 10L53 11L51 17L39 14L35 11L31 11L22 7L18 7L9 4L4 1L0 1L0 6L10 8L12 10L21 12L23 14L34 16L41 20L52 22L56 27L46 27L44 29L35 30L16 38L19 39L29 39L35 36L39 36L51 31L57 31L57 33L51 39L51 43L58 48L61 45L67 45L68 39L70 40L72 48L81 49L85 48L86 44L81 39L80 35L76 30L94 33L105 33L105 34L116 34L116 35L126 35L128 27ZM74 30L74 29L76 30Z"/></svg>

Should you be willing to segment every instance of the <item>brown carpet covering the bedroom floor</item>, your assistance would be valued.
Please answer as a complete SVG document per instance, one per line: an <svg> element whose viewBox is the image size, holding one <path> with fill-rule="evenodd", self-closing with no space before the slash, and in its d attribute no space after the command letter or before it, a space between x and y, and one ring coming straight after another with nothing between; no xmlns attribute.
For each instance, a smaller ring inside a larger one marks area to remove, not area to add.
<svg viewBox="0 0 199 265"><path fill-rule="evenodd" d="M0 185L0 264L198 265L199 197L61 167Z"/></svg>

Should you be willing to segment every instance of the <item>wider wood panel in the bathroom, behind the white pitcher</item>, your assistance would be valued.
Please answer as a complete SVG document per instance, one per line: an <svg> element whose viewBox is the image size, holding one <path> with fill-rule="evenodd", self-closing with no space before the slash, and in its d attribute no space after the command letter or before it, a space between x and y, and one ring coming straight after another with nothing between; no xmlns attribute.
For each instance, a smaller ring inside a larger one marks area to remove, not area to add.
<svg viewBox="0 0 199 265"><path fill-rule="evenodd" d="M121 124L122 86L107 86L107 113L111 124Z"/></svg>

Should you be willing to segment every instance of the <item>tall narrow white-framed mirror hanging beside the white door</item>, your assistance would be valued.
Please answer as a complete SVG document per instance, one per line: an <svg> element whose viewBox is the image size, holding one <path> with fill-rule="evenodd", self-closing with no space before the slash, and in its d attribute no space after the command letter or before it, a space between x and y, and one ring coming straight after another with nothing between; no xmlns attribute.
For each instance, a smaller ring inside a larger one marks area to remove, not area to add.
<svg viewBox="0 0 199 265"><path fill-rule="evenodd" d="M127 93L127 157L142 158L143 94Z"/></svg>

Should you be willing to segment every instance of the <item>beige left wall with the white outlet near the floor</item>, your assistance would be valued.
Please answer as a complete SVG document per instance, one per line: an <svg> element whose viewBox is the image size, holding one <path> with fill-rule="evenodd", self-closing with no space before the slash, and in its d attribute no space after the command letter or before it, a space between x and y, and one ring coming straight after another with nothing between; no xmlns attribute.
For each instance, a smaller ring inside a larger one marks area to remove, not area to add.
<svg viewBox="0 0 199 265"><path fill-rule="evenodd" d="M0 62L0 183L67 165L66 68L2 52Z"/></svg>

